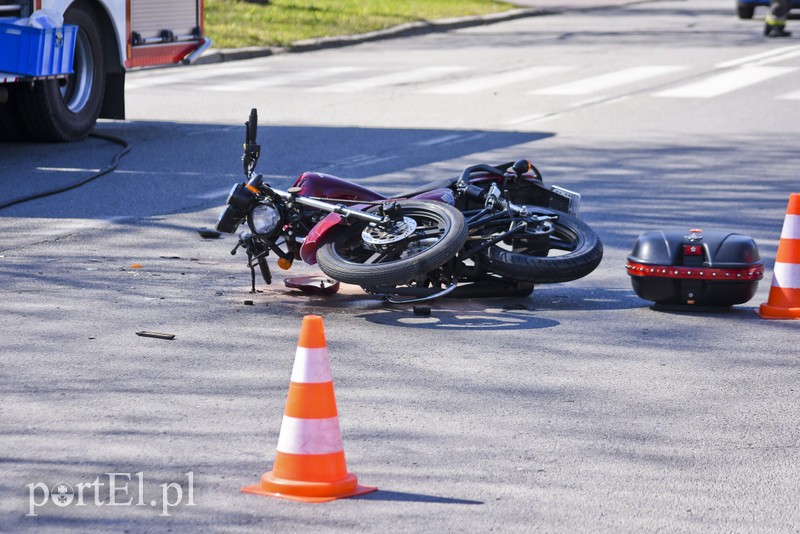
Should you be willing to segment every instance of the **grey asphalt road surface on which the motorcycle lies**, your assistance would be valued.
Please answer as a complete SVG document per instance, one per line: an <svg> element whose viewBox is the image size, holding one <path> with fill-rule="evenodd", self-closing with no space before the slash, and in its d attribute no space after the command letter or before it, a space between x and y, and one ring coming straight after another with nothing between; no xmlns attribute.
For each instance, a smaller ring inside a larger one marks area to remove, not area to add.
<svg viewBox="0 0 800 534"><path fill-rule="evenodd" d="M129 144L118 169L0 210L0 530L796 531L800 323L754 309L800 192L800 41L761 23L728 0L642 2L131 73L129 120L97 128ZM280 187L317 170L397 193L530 158L583 195L603 262L429 317L291 291L300 265L252 295L235 238L197 230L240 180L254 107ZM121 150L0 145L0 201ZM756 296L651 309L634 241L695 227L755 239ZM307 314L347 467L379 491L242 494L272 467Z"/></svg>

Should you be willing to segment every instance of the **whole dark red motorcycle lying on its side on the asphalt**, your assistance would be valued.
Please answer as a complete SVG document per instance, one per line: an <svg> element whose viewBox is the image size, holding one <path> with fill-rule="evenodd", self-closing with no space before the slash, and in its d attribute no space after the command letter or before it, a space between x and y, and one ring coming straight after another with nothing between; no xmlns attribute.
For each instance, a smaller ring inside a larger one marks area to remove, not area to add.
<svg viewBox="0 0 800 534"><path fill-rule="evenodd" d="M393 302L524 296L535 283L585 276L602 258L599 238L576 217L580 195L546 188L527 160L474 165L395 198L316 172L281 191L255 173L256 110L245 126L247 181L231 190L217 230L247 224L232 253L247 253L253 291L256 266L272 281L270 253L283 269L300 258Z"/></svg>

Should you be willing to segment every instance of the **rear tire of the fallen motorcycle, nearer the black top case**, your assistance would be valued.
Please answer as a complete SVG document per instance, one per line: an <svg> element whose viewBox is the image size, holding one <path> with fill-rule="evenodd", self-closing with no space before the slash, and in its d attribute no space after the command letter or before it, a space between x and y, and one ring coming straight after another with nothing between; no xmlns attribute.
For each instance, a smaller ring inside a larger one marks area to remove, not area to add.
<svg viewBox="0 0 800 534"><path fill-rule="evenodd" d="M508 221L499 224L507 227ZM553 284L583 278L603 259L603 243L594 230L566 213L558 214L547 249L544 255L541 236L528 243L522 234L511 250L491 246L479 254L479 262L487 270L513 280Z"/></svg>

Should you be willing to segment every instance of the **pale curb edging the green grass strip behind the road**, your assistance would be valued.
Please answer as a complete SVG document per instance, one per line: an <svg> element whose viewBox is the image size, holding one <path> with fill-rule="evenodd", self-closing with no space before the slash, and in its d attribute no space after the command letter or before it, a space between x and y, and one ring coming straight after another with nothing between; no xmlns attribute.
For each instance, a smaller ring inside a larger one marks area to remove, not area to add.
<svg viewBox="0 0 800 534"><path fill-rule="evenodd" d="M471 17L440 19L435 21L409 22L388 28L386 30L378 30L357 35L341 35L336 37L322 37L319 39L305 39L302 41L297 41L288 47L212 48L192 63L195 65L202 65L236 61L240 59L252 59L276 54L310 52L312 50L351 46L370 41L380 41L384 39L394 39L398 37L409 37L412 35L423 35L427 33L445 32L450 30L458 30L461 28L483 26L485 24L494 24L497 22L505 22L508 20L521 19L525 17L554 15L559 12L560 11L558 10L546 10L538 8L512 9L511 11L492 13L490 15L475 15Z"/></svg>

